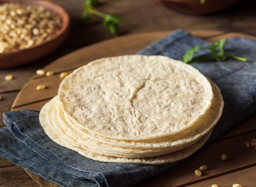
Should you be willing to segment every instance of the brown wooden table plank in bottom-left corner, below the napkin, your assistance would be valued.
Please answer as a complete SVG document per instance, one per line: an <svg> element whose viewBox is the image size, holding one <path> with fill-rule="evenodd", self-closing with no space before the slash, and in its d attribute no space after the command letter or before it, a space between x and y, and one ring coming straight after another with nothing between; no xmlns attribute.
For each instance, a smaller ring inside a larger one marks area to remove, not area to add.
<svg viewBox="0 0 256 187"><path fill-rule="evenodd" d="M19 166L0 168L0 186L39 187Z"/></svg>

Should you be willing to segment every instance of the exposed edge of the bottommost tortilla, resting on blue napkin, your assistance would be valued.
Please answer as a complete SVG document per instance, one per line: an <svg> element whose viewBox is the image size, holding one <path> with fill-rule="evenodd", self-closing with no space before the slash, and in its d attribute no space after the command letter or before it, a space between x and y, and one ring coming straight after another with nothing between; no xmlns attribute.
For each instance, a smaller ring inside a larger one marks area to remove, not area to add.
<svg viewBox="0 0 256 187"><path fill-rule="evenodd" d="M40 123L42 127L44 128L44 131L46 134L54 140L56 143L67 147L68 149L72 149L74 151L77 151L81 155L84 155L90 159L94 159L97 161L103 161L103 162L120 162L120 163L141 163L141 164L163 164L163 163L171 163L178 161L180 159L184 159L190 155L192 155L197 149L202 147L204 143L207 141L207 139L210 137L210 134L212 132L212 129L204 135L199 141L194 143L193 145L186 147L180 151L176 151L173 153L168 153L166 155L156 156L156 157L149 157L149 158L121 158L121 157L112 157L112 156L106 156L102 154L92 153L90 152L90 149L86 146L81 148L79 144L76 144L75 141L73 141L72 138L70 138L70 141L66 141L61 139L61 134L64 133L61 132L60 129L54 129L54 126L51 125L51 116L46 116L46 110L48 108L49 103L46 103L44 107L42 108L40 112Z"/></svg>

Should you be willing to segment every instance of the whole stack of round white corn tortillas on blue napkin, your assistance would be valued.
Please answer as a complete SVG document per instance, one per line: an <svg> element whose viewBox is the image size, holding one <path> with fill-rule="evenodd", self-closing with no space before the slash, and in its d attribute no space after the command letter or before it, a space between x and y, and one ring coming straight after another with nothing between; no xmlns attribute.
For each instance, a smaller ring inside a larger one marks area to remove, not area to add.
<svg viewBox="0 0 256 187"><path fill-rule="evenodd" d="M199 149L223 105L218 87L192 66L127 55L74 70L40 123L51 139L90 159L162 164Z"/></svg>

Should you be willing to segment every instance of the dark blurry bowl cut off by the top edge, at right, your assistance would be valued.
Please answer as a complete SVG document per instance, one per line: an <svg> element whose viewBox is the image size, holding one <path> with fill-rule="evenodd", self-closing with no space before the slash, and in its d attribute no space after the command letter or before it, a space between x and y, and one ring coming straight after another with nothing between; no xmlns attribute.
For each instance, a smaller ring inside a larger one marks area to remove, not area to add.
<svg viewBox="0 0 256 187"><path fill-rule="evenodd" d="M159 0L162 4L188 14L211 14L234 6L240 0L206 0L201 4L200 0Z"/></svg>

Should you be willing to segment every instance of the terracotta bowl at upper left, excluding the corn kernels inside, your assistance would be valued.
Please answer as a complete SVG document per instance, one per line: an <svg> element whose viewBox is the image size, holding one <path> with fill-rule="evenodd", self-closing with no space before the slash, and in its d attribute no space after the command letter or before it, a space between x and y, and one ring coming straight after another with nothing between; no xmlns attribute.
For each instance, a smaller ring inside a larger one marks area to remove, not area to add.
<svg viewBox="0 0 256 187"><path fill-rule="evenodd" d="M0 69L21 66L38 60L53 52L67 38L70 17L66 10L64 10L64 8L61 6L48 0L0 0L0 4L3 3L19 3L24 5L43 6L44 8L47 8L60 15L62 18L62 27L52 38L50 38L50 40L42 42L41 44L22 50L0 53Z"/></svg>

